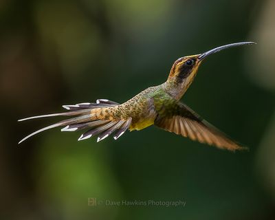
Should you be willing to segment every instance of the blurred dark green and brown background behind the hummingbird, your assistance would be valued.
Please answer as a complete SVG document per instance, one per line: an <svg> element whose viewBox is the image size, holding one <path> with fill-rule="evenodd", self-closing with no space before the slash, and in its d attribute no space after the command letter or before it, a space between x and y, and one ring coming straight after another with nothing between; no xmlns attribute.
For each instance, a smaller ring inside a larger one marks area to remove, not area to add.
<svg viewBox="0 0 275 220"><path fill-rule="evenodd" d="M275 219L275 1L0 1L0 219ZM124 102L175 59L226 43L183 100L250 147L230 153L150 127L96 143L19 118ZM88 206L186 201L186 206Z"/></svg>

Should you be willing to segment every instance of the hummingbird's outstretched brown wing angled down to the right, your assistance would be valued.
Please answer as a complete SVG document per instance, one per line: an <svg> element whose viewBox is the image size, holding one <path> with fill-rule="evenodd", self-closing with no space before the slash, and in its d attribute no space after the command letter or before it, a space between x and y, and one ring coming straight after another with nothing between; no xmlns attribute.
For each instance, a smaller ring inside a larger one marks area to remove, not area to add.
<svg viewBox="0 0 275 220"><path fill-rule="evenodd" d="M166 131L230 151L245 149L182 102L169 102L157 110L155 125Z"/></svg>

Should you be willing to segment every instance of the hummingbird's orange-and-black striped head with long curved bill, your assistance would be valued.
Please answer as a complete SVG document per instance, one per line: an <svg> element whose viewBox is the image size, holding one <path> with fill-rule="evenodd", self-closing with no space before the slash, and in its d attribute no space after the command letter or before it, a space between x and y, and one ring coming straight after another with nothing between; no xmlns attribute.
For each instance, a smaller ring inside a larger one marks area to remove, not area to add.
<svg viewBox="0 0 275 220"><path fill-rule="evenodd" d="M188 89L192 80L194 80L197 70L199 69L199 65L201 65L201 61L203 61L210 54L214 54L221 50L227 49L229 47L237 47L240 45L249 45L255 44L254 42L240 42L240 43L231 43L228 45L223 45L220 47L216 47L212 50L208 50L202 54L192 55L192 56L184 56L173 64L170 74L168 76L167 82L172 82L175 85L179 85L177 91L178 96L182 96L184 92Z"/></svg>

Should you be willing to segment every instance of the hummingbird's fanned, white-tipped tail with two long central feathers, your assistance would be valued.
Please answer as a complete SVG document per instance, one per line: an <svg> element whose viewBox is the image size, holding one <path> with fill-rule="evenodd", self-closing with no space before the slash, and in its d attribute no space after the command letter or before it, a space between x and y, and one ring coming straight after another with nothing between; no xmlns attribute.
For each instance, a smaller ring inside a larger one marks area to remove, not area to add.
<svg viewBox="0 0 275 220"><path fill-rule="evenodd" d="M19 142L19 144L27 140L29 137L36 135L37 133L41 133L42 131L46 131L48 129L53 129L58 126L65 126L63 127L63 129L61 129L61 131L78 131L82 129L89 129L88 131L83 133L83 135L81 135L78 140L85 140L94 135L99 135L98 142L111 135L111 133L117 131L114 136L116 140L127 129L129 129L129 126L131 124L131 118L122 120L118 117L112 117L111 109L117 105L117 102L99 99L96 101L96 103L85 102L74 105L63 105L65 109L69 110L68 112L39 115L21 119L19 121L30 120L34 118L77 115L75 118L62 120L61 122L57 122L50 126L46 126L43 129L39 129L38 131L34 131L34 133L31 133L30 135L24 137Z"/></svg>

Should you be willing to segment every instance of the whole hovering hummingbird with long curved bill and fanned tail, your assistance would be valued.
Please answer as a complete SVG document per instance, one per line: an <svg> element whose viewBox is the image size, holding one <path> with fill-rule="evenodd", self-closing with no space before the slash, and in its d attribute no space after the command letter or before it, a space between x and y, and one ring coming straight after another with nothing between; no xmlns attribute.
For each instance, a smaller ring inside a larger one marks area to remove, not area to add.
<svg viewBox="0 0 275 220"><path fill-rule="evenodd" d="M232 140L228 135L203 120L201 116L180 100L197 75L202 61L208 56L230 47L252 44L256 43L231 43L208 50L202 54L178 58L170 69L165 83L148 87L122 104L107 99L98 99L96 102L63 105L63 108L67 109L63 113L21 119L19 121L54 116L73 116L31 133L24 137L19 144L32 135L58 126L63 126L61 131L85 129L78 140L85 140L97 135L97 142L100 142L109 135L113 135L113 138L117 140L127 130L139 131L155 125L165 131L189 137L191 140L216 146L217 148L229 151L245 149L245 146Z"/></svg>

